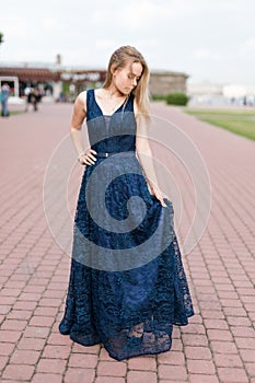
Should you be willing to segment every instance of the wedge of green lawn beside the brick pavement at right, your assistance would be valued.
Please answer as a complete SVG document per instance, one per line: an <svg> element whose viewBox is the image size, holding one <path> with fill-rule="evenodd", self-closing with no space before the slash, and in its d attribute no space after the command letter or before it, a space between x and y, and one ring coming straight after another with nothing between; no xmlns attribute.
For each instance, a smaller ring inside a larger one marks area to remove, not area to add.
<svg viewBox="0 0 255 383"><path fill-rule="evenodd" d="M255 111L187 109L198 119L255 140Z"/></svg>

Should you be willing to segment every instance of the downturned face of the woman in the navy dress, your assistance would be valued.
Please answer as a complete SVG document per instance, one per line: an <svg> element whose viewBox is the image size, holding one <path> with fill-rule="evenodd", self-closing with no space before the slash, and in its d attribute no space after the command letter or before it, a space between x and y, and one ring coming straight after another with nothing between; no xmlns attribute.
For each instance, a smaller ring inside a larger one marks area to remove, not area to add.
<svg viewBox="0 0 255 383"><path fill-rule="evenodd" d="M120 93L127 95L137 86L141 74L140 62L127 62L126 67L115 69L113 72L113 84Z"/></svg>

